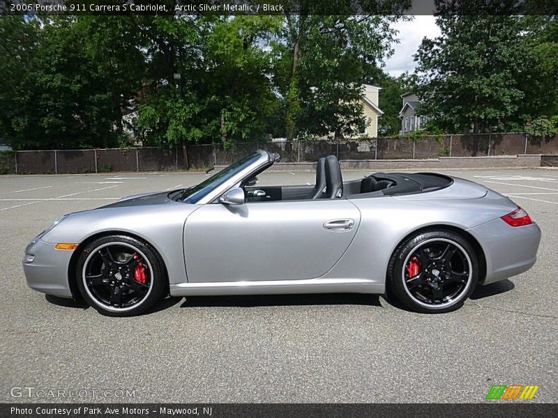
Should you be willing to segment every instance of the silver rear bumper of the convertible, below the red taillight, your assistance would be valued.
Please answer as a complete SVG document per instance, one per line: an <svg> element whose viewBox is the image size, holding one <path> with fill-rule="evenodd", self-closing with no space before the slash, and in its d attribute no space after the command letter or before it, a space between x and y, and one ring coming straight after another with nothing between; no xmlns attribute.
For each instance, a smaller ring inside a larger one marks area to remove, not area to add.
<svg viewBox="0 0 558 418"><path fill-rule="evenodd" d="M537 224L514 228L502 219L495 219L467 231L476 238L485 254L486 277L482 284L526 272L536 262L541 242L541 229Z"/></svg>

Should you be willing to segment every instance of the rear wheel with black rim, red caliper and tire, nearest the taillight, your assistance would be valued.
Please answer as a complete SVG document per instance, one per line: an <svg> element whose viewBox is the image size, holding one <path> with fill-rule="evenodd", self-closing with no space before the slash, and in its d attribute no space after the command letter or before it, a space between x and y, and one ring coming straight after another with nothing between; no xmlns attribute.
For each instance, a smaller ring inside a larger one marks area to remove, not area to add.
<svg viewBox="0 0 558 418"><path fill-rule="evenodd" d="M387 279L391 291L412 311L455 311L476 287L478 257L458 233L424 231L395 249Z"/></svg>

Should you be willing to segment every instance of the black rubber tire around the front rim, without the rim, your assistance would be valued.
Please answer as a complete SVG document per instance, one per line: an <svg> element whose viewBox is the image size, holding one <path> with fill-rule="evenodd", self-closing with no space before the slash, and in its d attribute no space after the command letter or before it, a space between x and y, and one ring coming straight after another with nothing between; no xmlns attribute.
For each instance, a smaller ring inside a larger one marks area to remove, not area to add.
<svg viewBox="0 0 558 418"><path fill-rule="evenodd" d="M84 268L84 264L86 261L87 256L89 254L96 251L96 249L102 245L108 243L118 244L119 242L132 245L136 249L140 249L142 253L146 256L147 260L151 264L151 268L153 269L153 277L151 278L152 281L152 288L151 293L143 300L137 307L133 307L133 309L129 309L127 311L110 311L105 309L102 305L98 304L95 300L93 300L89 294L85 290L85 285L83 282L82 272ZM89 304L89 306L96 309L100 314L106 316L136 316L143 314L147 311L150 307L153 306L155 302L160 300L160 297L163 293L165 288L165 281L166 281L166 274L165 268L163 268L163 261L161 260L159 254L151 245L143 242L141 240L137 240L136 238L129 237L127 235L107 235L102 238L98 238L90 242L84 249L80 256L77 258L77 265L75 271L75 277L77 281L77 288L80 289L80 293L84 300Z"/></svg>

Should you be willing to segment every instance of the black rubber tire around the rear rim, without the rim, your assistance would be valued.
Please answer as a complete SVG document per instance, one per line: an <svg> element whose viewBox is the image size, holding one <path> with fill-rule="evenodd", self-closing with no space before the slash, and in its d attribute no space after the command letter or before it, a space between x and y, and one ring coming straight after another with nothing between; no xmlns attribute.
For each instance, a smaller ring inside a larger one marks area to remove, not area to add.
<svg viewBox="0 0 558 418"><path fill-rule="evenodd" d="M462 293L455 302L449 306L445 307L424 307L421 304L418 304L416 300L414 300L408 293L405 285L405 277L402 275L402 270L404 267L404 263L409 256L410 252L413 251L418 245L421 245L422 242L427 240L432 240L440 238L443 240L451 240L458 245L460 245L465 251L467 252L467 256L471 261L472 265L472 274L469 274L469 288L465 293ZM393 254L391 262L389 264L389 272L388 272L388 279L389 279L389 286L393 293L398 297L400 302L405 304L405 306L412 311L421 312L425 314L442 314L444 312L455 311L455 309L459 309L462 307L465 300L469 298L471 293L474 291L476 287L476 283L478 281L478 256L472 245L464 238L462 235L455 233L453 231L425 231L422 233L418 233L398 247Z"/></svg>

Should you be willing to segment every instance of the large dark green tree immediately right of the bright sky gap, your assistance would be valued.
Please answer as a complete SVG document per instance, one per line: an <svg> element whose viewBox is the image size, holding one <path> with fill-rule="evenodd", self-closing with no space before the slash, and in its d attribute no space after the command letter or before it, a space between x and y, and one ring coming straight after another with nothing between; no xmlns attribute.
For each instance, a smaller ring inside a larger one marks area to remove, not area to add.
<svg viewBox="0 0 558 418"><path fill-rule="evenodd" d="M420 111L446 132L483 132L517 120L531 81L523 17L444 15L441 36L425 38L415 61Z"/></svg>

